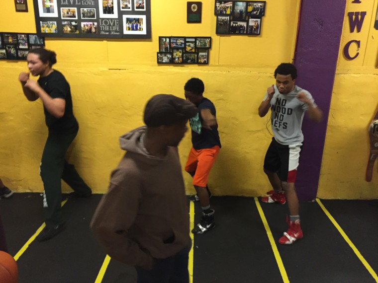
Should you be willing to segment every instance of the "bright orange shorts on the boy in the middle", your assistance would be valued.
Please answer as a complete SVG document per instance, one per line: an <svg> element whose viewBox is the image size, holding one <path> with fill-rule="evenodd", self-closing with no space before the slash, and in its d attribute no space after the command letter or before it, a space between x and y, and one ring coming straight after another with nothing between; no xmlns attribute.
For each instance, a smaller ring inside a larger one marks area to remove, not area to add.
<svg viewBox="0 0 378 283"><path fill-rule="evenodd" d="M194 172L194 186L206 187L211 167L218 156L219 149L220 148L218 145L211 148L203 148L198 150L191 147L187 165L185 165L185 171L189 173Z"/></svg>

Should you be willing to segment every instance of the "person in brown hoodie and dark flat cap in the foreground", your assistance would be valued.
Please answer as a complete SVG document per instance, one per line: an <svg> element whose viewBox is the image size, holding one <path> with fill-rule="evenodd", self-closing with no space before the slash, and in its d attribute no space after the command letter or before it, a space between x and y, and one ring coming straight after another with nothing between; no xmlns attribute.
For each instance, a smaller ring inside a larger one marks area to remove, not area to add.
<svg viewBox="0 0 378 283"><path fill-rule="evenodd" d="M144 110L146 126L119 138L127 152L91 228L112 259L135 266L138 282L189 282L189 210L177 146L197 111L182 98L155 95Z"/></svg>

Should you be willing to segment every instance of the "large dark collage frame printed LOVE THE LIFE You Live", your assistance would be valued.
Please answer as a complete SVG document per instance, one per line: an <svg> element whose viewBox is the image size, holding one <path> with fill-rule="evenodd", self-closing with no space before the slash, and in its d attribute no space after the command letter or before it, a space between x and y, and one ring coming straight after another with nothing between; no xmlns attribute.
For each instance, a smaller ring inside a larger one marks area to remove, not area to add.
<svg viewBox="0 0 378 283"><path fill-rule="evenodd" d="M44 37L151 38L151 0L33 0Z"/></svg>

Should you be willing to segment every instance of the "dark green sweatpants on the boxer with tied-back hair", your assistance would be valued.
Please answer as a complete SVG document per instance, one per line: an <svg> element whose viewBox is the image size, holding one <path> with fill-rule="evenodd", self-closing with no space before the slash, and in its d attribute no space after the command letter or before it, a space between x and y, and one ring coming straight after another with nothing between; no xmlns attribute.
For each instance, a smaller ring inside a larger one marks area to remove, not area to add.
<svg viewBox="0 0 378 283"><path fill-rule="evenodd" d="M39 170L44 187L43 211L47 226L64 222L61 207L61 179L80 195L91 192L91 188L79 176L74 165L68 164L64 158L78 130L71 132L49 131L49 136L43 149Z"/></svg>

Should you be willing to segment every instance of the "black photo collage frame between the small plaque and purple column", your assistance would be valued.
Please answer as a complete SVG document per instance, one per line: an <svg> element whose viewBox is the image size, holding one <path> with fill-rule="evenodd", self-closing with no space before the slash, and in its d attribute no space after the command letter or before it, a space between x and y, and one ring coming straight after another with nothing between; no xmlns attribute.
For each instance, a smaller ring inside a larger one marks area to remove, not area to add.
<svg viewBox="0 0 378 283"><path fill-rule="evenodd" d="M266 1L215 0L216 34L260 35Z"/></svg>

